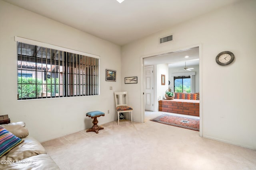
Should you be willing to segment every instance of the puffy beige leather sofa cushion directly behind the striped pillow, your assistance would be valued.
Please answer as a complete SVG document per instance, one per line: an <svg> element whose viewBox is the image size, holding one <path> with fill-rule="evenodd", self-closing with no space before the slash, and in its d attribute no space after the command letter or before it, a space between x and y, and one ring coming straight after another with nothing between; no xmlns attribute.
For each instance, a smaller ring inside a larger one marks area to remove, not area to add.
<svg viewBox="0 0 256 170"><path fill-rule="evenodd" d="M7 131L14 134L16 137L24 138L28 136L28 129L24 122L8 123L2 125Z"/></svg>

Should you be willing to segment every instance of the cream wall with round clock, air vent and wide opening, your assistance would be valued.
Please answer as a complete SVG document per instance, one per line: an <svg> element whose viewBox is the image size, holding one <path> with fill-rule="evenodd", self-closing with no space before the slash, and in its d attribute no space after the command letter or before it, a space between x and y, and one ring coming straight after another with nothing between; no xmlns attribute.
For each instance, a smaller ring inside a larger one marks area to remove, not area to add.
<svg viewBox="0 0 256 170"><path fill-rule="evenodd" d="M141 57L202 44L202 135L256 149L256 81L251 74L256 63L255 9L255 0L243 0L125 45L122 72L140 79ZM170 33L174 41L158 45L158 38ZM233 52L235 61L228 66L216 64L215 57L222 51ZM140 86L140 81L136 87L122 83L122 88L133 94L130 104L137 106L136 121L141 121Z"/></svg>

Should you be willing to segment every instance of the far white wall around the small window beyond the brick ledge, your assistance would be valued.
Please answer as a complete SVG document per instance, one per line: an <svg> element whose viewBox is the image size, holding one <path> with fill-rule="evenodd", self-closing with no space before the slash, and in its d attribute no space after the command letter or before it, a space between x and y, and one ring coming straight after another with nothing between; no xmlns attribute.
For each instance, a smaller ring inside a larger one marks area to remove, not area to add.
<svg viewBox="0 0 256 170"><path fill-rule="evenodd" d="M194 68L192 72L196 72L195 93L199 93L199 65L189 66L189 68ZM183 67L176 67L176 68L169 67L169 80L170 80L169 88L171 88L172 90L174 90L174 76L172 76L172 73L184 72L184 70L181 70L181 69L183 69Z"/></svg>

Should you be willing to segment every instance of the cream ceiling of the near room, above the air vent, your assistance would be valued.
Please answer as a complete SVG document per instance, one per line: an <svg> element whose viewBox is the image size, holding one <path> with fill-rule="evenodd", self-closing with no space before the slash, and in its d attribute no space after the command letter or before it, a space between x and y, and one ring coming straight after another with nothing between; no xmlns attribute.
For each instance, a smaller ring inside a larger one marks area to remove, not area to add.
<svg viewBox="0 0 256 170"><path fill-rule="evenodd" d="M125 45L238 0L4 0ZM165 36L165 35L163 35Z"/></svg>

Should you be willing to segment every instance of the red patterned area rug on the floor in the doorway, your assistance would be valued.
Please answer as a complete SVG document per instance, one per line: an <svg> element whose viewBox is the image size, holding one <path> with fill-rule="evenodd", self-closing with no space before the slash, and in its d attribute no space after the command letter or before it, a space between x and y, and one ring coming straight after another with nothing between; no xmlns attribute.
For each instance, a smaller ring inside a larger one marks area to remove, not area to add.
<svg viewBox="0 0 256 170"><path fill-rule="evenodd" d="M163 114L150 121L199 131L199 119Z"/></svg>

